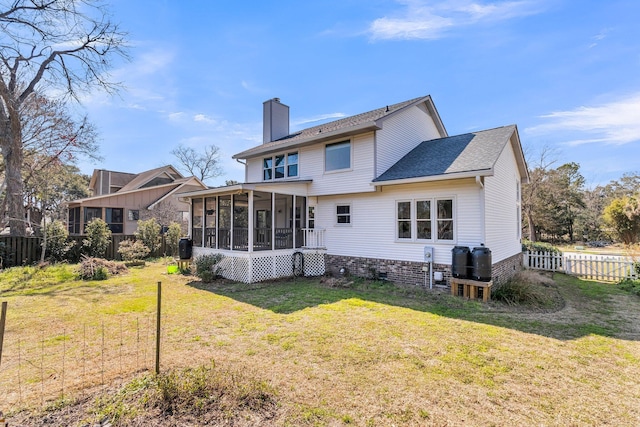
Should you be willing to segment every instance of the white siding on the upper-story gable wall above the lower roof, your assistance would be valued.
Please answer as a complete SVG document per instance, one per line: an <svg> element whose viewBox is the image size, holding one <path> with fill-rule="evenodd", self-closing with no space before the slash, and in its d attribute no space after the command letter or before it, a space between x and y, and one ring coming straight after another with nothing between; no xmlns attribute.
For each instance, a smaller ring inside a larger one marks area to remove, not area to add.
<svg viewBox="0 0 640 427"><path fill-rule="evenodd" d="M393 166L422 141L440 138L423 104L388 117L376 135L376 177Z"/></svg>

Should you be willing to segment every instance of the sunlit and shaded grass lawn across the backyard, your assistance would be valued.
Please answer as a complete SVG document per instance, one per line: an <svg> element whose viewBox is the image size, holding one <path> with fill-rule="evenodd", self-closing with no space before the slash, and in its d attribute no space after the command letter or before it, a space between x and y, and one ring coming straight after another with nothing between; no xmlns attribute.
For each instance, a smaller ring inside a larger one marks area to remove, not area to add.
<svg viewBox="0 0 640 427"><path fill-rule="evenodd" d="M545 310L359 280L202 284L162 263L56 277L0 274L0 409L59 400L63 346L67 395L144 374L162 281L162 370L213 360L268 384L266 425L640 424L640 298L610 284L555 276L562 304Z"/></svg>

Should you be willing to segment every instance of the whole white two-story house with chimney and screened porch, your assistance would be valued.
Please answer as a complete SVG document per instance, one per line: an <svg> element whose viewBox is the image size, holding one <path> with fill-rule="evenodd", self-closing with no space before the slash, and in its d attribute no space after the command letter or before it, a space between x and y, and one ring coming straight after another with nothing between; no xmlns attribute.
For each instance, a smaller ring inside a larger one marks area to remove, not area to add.
<svg viewBox="0 0 640 427"><path fill-rule="evenodd" d="M290 134L276 98L264 143L233 158L245 183L181 194L194 256L223 253L228 278L328 270L424 285L429 252L446 284L452 249L482 244L494 283L521 265L528 172L515 125L449 136L425 96Z"/></svg>

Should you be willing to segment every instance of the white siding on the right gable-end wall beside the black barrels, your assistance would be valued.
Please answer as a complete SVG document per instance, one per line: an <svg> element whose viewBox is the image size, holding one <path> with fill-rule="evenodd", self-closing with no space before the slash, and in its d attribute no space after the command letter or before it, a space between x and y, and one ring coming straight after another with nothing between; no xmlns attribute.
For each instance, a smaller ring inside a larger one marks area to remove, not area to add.
<svg viewBox="0 0 640 427"><path fill-rule="evenodd" d="M493 263L522 251L518 187L520 176L511 144L507 144L494 167L494 176L485 179L485 245Z"/></svg>

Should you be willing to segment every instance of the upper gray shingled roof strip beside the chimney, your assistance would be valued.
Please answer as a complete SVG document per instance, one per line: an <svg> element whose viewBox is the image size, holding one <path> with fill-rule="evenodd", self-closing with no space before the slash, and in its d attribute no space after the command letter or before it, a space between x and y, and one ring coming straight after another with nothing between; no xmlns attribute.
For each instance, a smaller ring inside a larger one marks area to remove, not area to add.
<svg viewBox="0 0 640 427"><path fill-rule="evenodd" d="M306 128L300 130L298 132L294 132L285 137L277 139L272 142L267 142L265 144L260 144L256 147L250 148L246 151L238 153L234 155L234 158L247 158L251 157L254 153L261 153L265 150L269 150L270 148L278 147L279 145L287 144L290 146L291 144L295 144L298 141L306 141L309 138L319 137L323 134L330 132L337 132L341 130L348 130L355 126L364 125L367 123L375 122L383 118L384 116L388 116L408 105L414 104L422 99L427 99L428 96L421 96L418 98L413 98L408 101L400 102L398 104L384 106L382 108L378 108L376 110L367 111L366 113L356 114L355 116L345 117L344 119L334 120L332 122L324 123L318 126L313 126L310 128Z"/></svg>

